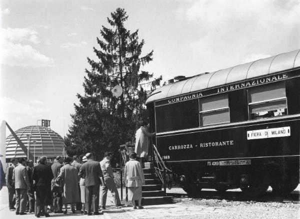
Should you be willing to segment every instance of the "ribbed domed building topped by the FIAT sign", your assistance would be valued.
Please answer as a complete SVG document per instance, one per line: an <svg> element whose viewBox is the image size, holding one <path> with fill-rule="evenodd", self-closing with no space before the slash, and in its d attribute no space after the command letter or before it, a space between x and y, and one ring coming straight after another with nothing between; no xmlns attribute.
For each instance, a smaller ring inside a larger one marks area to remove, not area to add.
<svg viewBox="0 0 300 219"><path fill-rule="evenodd" d="M34 160L40 156L47 156L48 159L53 159L56 156L63 155L63 138L49 127L26 126L14 131L14 133L26 148L28 148L29 143L29 152L34 156ZM12 134L6 138L5 143L6 162L9 162L10 158L13 157L27 157Z"/></svg>

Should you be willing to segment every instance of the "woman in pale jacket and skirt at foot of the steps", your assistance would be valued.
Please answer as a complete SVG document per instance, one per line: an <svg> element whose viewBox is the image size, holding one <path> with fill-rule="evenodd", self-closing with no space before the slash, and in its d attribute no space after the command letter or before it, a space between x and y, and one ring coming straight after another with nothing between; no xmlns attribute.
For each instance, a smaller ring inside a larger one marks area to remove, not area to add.
<svg viewBox="0 0 300 219"><path fill-rule="evenodd" d="M135 201L138 201L138 209L141 207L141 186L145 184L144 175L140 163L136 161L136 153L130 152L130 160L125 165L124 177L128 188L128 200L132 201L133 209L136 209Z"/></svg>

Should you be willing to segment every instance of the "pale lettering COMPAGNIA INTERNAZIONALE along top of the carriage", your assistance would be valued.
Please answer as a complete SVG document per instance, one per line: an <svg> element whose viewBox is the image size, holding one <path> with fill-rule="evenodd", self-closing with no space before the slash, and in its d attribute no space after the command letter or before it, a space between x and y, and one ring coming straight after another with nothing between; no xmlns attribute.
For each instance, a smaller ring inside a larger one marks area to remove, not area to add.
<svg viewBox="0 0 300 219"><path fill-rule="evenodd" d="M181 95L178 97L172 97L167 100L159 101L156 104L156 106L162 105L162 104L177 103L177 102L181 102L181 101L185 101L185 100L190 100L190 99L195 99L195 98L208 96L208 95L212 95L212 94L223 93L223 92L227 92L227 91L257 86L257 85L261 85L261 84L267 84L267 83L271 83L274 81L284 80L286 78L288 78L287 73L279 73L279 74L275 74L275 75L265 76L265 77L248 80L248 81L243 81L243 82L238 82L238 83L234 83L234 84L230 84L230 85L225 85L225 86L221 86L221 87L217 87L217 88L213 88L213 89L209 89L209 90L205 90L205 91Z"/></svg>

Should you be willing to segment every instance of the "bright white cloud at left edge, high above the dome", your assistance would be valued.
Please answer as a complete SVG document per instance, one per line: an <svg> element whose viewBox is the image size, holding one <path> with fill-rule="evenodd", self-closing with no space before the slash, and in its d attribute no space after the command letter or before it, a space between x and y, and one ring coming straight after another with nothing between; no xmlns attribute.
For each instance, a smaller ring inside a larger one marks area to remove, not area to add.
<svg viewBox="0 0 300 219"><path fill-rule="evenodd" d="M48 67L54 65L54 60L41 54L29 42L37 44L37 32L30 28L0 29L1 63L9 66Z"/></svg>

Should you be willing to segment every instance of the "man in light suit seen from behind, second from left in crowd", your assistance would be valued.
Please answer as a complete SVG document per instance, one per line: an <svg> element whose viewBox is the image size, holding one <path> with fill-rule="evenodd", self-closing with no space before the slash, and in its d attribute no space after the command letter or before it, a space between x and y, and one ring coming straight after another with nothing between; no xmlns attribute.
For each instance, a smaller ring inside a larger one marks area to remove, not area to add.
<svg viewBox="0 0 300 219"><path fill-rule="evenodd" d="M27 191L30 190L26 163L24 158L18 159L18 165L13 170L12 179L15 188L16 215L26 215Z"/></svg>

